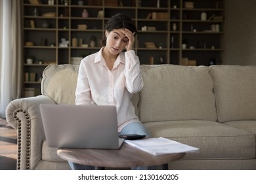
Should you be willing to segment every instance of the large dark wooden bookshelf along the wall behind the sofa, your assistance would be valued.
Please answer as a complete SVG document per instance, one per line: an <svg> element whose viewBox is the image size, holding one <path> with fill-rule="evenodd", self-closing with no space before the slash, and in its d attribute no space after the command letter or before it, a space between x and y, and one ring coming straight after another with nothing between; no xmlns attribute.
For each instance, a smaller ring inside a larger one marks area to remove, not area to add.
<svg viewBox="0 0 256 183"><path fill-rule="evenodd" d="M43 69L50 63L72 64L74 59L97 52L104 25L117 12L127 14L137 25L135 52L141 64L149 64L152 58L154 64L180 64L184 63L182 58L196 60L196 65L209 65L213 60L224 63L224 0L190 0L193 7L186 7L185 2L160 0L158 7L156 0L83 0L83 5L78 5L78 0L66 5L62 0L53 5L48 0L38 5L24 0L24 73L36 73L35 82L24 80L24 88L40 88ZM88 18L81 16L83 9L87 9ZM207 20L201 20L202 12ZM77 40L76 46L72 39ZM33 46L26 46L26 42ZM146 42L155 47L146 47ZM34 57L32 64L26 63L27 56Z"/></svg>

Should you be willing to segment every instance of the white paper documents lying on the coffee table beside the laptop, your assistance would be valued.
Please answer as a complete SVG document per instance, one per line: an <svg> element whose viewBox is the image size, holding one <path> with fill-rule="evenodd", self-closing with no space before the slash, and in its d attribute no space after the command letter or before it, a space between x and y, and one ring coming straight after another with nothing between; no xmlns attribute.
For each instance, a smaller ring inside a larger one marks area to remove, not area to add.
<svg viewBox="0 0 256 183"><path fill-rule="evenodd" d="M125 140L125 142L131 146L139 148L140 150L153 154L154 156L181 152L199 152L199 148L171 141L163 137Z"/></svg>

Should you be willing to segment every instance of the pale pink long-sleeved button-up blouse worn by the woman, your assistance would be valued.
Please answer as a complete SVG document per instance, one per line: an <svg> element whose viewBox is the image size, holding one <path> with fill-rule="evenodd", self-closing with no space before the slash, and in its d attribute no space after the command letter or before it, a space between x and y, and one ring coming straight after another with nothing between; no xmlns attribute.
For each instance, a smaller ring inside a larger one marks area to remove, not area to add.
<svg viewBox="0 0 256 183"><path fill-rule="evenodd" d="M133 93L143 87L140 61L134 50L121 52L112 71L102 49L81 60L75 90L76 105L115 105L118 131L131 122L139 122L131 103Z"/></svg>

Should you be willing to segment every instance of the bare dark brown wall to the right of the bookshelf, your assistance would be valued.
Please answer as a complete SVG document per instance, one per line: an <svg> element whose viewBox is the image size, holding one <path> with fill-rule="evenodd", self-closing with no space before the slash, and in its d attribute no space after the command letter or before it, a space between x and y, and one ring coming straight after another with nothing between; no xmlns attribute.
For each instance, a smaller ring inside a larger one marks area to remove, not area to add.
<svg viewBox="0 0 256 183"><path fill-rule="evenodd" d="M226 64L256 65L256 1L226 1Z"/></svg>

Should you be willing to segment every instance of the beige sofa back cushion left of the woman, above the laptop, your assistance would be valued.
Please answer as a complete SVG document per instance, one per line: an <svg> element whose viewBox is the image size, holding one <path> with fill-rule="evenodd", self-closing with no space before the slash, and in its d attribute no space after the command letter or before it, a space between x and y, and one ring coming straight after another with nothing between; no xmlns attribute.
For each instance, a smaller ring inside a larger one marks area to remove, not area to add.
<svg viewBox="0 0 256 183"><path fill-rule="evenodd" d="M57 104L75 104L75 88L79 65L49 65L43 71L41 93Z"/></svg>

